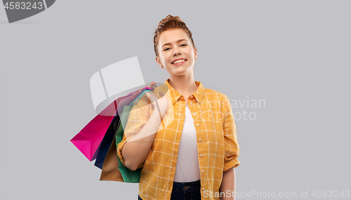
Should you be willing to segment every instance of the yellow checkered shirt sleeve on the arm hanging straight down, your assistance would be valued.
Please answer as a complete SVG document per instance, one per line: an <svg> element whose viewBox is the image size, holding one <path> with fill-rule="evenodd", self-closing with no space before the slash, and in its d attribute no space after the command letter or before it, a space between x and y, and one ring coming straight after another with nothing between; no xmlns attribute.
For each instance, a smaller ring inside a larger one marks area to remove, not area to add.
<svg viewBox="0 0 351 200"><path fill-rule="evenodd" d="M223 110L225 116L223 122L225 145L223 172L229 170L232 167L236 168L240 164L239 160L237 159L240 152L240 148L237 142L237 126L235 126L230 100L229 98L227 98L227 96L225 97L226 100L224 103L225 106Z"/></svg>

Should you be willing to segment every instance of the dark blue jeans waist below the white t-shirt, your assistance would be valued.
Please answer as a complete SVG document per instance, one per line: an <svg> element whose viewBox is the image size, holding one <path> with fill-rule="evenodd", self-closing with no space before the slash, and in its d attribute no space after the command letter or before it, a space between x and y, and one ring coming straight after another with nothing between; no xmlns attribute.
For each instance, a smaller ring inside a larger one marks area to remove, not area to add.
<svg viewBox="0 0 351 200"><path fill-rule="evenodd" d="M173 182L171 200L201 200L201 182ZM138 200L143 200L138 195Z"/></svg>

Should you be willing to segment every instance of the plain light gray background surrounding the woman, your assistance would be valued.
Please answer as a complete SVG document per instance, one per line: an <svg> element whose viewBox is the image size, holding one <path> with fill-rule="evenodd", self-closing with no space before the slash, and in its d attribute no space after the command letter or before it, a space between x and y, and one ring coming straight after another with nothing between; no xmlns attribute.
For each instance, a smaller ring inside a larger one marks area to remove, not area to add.
<svg viewBox="0 0 351 200"><path fill-rule="evenodd" d="M89 79L99 69L136 55L146 82L168 79L152 43L168 14L193 33L195 80L233 102L266 102L233 108L257 114L236 121L237 192L303 190L310 197L315 189L351 189L350 6L56 1L13 24L1 8L0 198L137 198L138 184L100 181L100 169L69 140L95 116Z"/></svg>

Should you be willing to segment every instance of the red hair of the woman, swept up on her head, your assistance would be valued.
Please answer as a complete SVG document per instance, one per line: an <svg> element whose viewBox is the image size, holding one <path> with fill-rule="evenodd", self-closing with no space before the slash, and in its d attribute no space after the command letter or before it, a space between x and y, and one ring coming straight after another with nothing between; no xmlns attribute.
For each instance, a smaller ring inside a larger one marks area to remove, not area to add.
<svg viewBox="0 0 351 200"><path fill-rule="evenodd" d="M162 32L165 32L169 29L183 29L192 41L192 46L195 48L194 40L192 39L192 32L187 28L185 22L180 19L179 16L167 15L166 18L159 22L159 27L157 27L154 32L154 53L157 57L159 57L159 53L157 51L157 46L159 44L158 37Z"/></svg>

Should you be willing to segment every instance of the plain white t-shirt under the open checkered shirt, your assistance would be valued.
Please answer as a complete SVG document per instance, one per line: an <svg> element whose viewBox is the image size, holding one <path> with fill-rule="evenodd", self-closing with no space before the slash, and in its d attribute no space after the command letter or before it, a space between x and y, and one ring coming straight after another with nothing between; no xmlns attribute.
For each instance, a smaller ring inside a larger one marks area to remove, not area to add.
<svg viewBox="0 0 351 200"><path fill-rule="evenodd" d="M197 152L197 132L192 112L185 107L183 133L180 137L175 182L191 182L200 179L199 156Z"/></svg>

